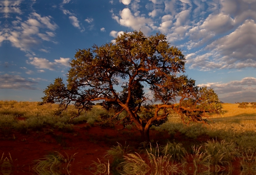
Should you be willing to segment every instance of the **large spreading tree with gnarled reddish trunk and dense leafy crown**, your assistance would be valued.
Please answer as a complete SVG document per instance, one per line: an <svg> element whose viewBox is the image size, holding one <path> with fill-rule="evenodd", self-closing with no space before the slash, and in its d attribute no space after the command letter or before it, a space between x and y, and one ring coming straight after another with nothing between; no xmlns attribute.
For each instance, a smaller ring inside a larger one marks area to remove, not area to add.
<svg viewBox="0 0 256 175"><path fill-rule="evenodd" d="M171 111L184 123L207 123L203 118L207 113L221 112L212 89L198 87L195 80L180 75L185 72L185 56L170 46L165 35L133 31L115 40L77 50L67 85L56 78L44 90L43 103L59 103L63 110L74 104L78 109L74 118L102 100L103 107L116 112L105 118L118 119L120 113L126 113L119 122L135 123L142 140L149 140L149 128L164 123ZM153 102L160 104L149 105Z"/></svg>

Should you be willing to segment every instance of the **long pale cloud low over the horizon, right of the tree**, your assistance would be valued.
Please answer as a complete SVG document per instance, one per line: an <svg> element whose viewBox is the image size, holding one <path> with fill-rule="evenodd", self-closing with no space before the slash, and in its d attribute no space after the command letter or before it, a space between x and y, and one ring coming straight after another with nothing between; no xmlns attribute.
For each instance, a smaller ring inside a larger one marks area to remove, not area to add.
<svg viewBox="0 0 256 175"><path fill-rule="evenodd" d="M256 78L245 77L242 80L230 81L228 83L206 83L198 86L207 86L219 95L220 100L234 103L235 101L255 101Z"/></svg>

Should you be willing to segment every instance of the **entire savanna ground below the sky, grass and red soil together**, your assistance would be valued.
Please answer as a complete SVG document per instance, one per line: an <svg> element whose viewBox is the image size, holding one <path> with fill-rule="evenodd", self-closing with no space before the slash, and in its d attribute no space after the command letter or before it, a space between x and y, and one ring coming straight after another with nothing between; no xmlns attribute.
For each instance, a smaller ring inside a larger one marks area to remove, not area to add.
<svg viewBox="0 0 256 175"><path fill-rule="evenodd" d="M73 106L0 101L0 174L256 174L256 109L222 106L209 125L172 113L140 143L135 125L101 120L101 106L70 121Z"/></svg>

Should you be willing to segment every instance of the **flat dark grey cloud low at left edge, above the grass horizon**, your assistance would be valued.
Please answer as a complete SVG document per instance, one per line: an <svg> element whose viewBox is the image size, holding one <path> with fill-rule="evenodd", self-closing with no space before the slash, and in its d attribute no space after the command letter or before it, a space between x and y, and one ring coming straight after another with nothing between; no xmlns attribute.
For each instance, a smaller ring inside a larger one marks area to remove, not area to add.
<svg viewBox="0 0 256 175"><path fill-rule="evenodd" d="M29 89L35 90L37 82L26 80L19 75L0 75L0 89Z"/></svg>

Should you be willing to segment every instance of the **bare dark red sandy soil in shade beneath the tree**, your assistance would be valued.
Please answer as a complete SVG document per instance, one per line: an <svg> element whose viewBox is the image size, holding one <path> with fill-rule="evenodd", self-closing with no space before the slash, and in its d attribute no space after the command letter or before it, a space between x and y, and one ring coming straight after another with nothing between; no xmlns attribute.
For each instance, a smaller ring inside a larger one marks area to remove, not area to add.
<svg viewBox="0 0 256 175"><path fill-rule="evenodd" d="M21 117L20 117L21 119ZM157 141L159 145L166 144L167 139L175 142L180 142L187 149L192 145L199 145L202 142L210 139L207 136L199 137L198 139L187 139L180 133L170 136L166 131L150 131L150 139ZM75 131L65 133L52 128L45 128L42 131L28 131L28 133L20 133L12 131L8 138L0 138L0 154L4 153L4 157L9 159L9 153L14 162L13 174L27 175L32 172L31 167L34 165L34 160L43 158L54 151L69 157L75 153L74 161L71 162L69 170L71 174L92 174L89 172L89 167L93 163L112 162L112 158L103 157L106 151L113 146L117 146L119 142L123 147L128 146L132 152L139 153L140 147L140 132L133 127L131 130L123 129L123 125L115 125L115 128L102 128L95 124L89 127L88 124L75 125ZM188 149L187 149L188 150ZM188 151L190 154L190 152ZM0 155L0 156L1 156ZM239 167L239 164L237 164ZM193 173L193 172L192 172ZM235 174L240 174L239 168ZM234 173L233 173L234 174Z"/></svg>

